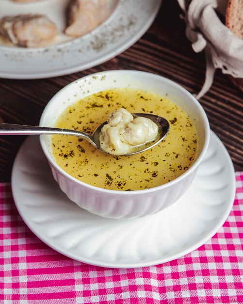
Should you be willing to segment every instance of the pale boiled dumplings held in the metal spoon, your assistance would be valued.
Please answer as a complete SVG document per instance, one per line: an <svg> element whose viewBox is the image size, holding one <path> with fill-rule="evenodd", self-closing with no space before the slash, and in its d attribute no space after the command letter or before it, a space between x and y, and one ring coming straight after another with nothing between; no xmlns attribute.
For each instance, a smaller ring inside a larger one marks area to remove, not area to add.
<svg viewBox="0 0 243 304"><path fill-rule="evenodd" d="M151 119L134 119L124 108L111 113L107 122L101 129L100 146L103 151L114 155L126 154L135 146L154 140L159 131Z"/></svg>

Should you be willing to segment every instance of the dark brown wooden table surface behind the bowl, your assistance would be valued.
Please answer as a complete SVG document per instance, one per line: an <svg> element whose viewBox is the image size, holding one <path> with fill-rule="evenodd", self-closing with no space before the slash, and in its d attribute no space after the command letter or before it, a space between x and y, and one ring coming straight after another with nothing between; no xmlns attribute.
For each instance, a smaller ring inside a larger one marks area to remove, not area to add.
<svg viewBox="0 0 243 304"><path fill-rule="evenodd" d="M167 77L191 93L199 92L205 77L204 53L194 53L176 0L163 0L148 31L127 51L94 68L49 79L0 79L0 120L38 125L50 98L84 75L110 69L137 69ZM243 93L220 71L200 100L211 130L225 144L235 170L243 170ZM0 182L10 182L16 153L25 136L0 136Z"/></svg>

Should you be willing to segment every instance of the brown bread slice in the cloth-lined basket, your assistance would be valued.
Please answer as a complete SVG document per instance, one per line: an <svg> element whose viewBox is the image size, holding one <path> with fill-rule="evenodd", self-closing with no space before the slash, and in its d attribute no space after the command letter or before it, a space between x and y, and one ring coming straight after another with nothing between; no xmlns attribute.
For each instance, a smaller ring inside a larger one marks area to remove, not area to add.
<svg viewBox="0 0 243 304"><path fill-rule="evenodd" d="M243 0L229 0L226 10L226 26L243 39Z"/></svg>

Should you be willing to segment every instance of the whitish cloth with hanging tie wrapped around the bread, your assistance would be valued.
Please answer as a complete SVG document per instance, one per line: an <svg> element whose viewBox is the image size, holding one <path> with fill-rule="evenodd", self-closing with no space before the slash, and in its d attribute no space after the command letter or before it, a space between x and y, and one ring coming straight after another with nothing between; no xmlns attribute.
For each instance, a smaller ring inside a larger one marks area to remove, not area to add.
<svg viewBox="0 0 243 304"><path fill-rule="evenodd" d="M210 89L216 68L234 78L243 78L243 39L225 26L216 11L225 15L227 0L178 0L184 11L186 35L195 52L205 51L206 76L201 98Z"/></svg>

